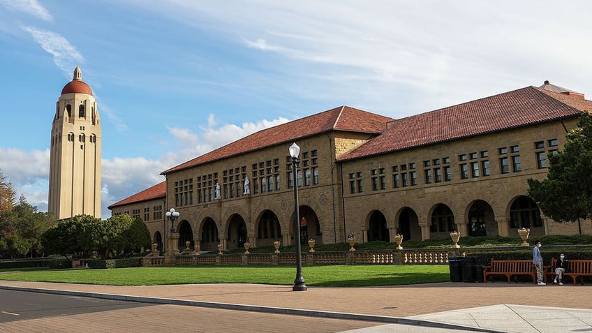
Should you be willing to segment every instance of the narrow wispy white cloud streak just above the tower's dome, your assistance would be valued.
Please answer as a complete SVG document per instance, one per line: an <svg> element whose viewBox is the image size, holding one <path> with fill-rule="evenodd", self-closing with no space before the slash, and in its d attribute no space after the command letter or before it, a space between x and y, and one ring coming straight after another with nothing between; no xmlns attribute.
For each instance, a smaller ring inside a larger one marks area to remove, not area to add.
<svg viewBox="0 0 592 333"><path fill-rule="evenodd" d="M70 44L66 38L52 31L37 29L35 27L22 27L24 31L29 32L33 39L43 50L52 54L54 63L66 74L72 72L72 68L84 62L82 54L76 50L76 47Z"/></svg>

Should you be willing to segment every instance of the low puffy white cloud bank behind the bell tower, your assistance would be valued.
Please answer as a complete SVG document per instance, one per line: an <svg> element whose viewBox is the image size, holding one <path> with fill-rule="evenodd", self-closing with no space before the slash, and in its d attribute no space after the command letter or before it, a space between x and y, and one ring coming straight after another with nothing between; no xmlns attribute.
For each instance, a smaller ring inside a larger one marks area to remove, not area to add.
<svg viewBox="0 0 592 333"><path fill-rule="evenodd" d="M216 119L209 117L209 124L216 124ZM158 160L143 157L101 160L101 215L110 216L109 205L123 200L130 195L149 188L164 180L160 173L175 165L184 163L197 156L219 148L246 135L286 123L288 119L263 119L246 122L241 126L224 124L219 127L199 128L198 133L187 128L168 127L176 142L176 151L163 154ZM22 151L15 148L0 147L0 172L13 183L17 198L23 194L27 202L38 207L40 212L47 212L47 190L49 188L50 151Z"/></svg>

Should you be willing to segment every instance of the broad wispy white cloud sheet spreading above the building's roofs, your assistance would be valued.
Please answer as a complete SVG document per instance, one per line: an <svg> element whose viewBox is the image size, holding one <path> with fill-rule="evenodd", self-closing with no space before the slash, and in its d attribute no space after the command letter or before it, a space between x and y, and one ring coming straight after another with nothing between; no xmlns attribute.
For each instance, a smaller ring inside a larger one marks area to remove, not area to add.
<svg viewBox="0 0 592 333"><path fill-rule="evenodd" d="M575 80L561 83L581 90L592 75L582 66L592 52L582 35L589 30L587 1L169 0L135 6L220 31L225 42L246 48L265 72L248 87L394 117L540 84L549 73L571 73ZM248 82L244 76L239 82Z"/></svg>

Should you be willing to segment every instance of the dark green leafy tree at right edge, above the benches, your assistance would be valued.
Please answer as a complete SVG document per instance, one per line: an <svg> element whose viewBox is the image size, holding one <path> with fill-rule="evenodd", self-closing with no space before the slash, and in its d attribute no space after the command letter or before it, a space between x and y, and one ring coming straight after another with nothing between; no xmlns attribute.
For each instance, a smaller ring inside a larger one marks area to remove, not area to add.
<svg viewBox="0 0 592 333"><path fill-rule="evenodd" d="M592 116L584 111L577 127L565 135L563 151L549 154L542 181L528 179L528 195L558 222L592 217Z"/></svg>

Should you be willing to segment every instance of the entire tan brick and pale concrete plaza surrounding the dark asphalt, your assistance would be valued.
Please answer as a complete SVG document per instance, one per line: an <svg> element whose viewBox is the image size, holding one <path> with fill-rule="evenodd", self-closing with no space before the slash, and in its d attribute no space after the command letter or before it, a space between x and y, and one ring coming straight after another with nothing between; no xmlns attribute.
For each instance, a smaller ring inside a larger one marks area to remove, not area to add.
<svg viewBox="0 0 592 333"><path fill-rule="evenodd" d="M293 292L256 284L0 281L0 288L154 303L0 323L1 332L592 332L590 286L446 282Z"/></svg>

